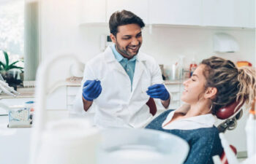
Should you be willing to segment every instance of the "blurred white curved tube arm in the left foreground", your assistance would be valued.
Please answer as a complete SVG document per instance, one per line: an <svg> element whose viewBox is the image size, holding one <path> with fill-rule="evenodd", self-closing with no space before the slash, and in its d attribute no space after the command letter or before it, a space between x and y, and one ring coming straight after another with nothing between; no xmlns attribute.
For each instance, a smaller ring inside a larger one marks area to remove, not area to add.
<svg viewBox="0 0 256 164"><path fill-rule="evenodd" d="M45 109L50 69L52 69L52 66L55 63L64 59L75 60L77 63L80 62L78 58L75 57L75 55L58 55L55 58L45 60L37 69L37 87L35 90L37 104L35 106L36 112L34 113L33 128L31 130L29 164L38 162L37 158L39 155L39 147L41 147L42 144L42 131L45 129L47 118Z"/></svg>

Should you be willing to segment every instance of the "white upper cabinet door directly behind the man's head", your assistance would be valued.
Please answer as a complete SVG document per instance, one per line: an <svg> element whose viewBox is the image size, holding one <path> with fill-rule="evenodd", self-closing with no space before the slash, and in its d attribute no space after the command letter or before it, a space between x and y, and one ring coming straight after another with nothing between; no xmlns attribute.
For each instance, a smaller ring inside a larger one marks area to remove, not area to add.
<svg viewBox="0 0 256 164"><path fill-rule="evenodd" d="M107 22L113 12L126 9L135 13L145 24L148 23L148 0L108 0L107 1Z"/></svg>

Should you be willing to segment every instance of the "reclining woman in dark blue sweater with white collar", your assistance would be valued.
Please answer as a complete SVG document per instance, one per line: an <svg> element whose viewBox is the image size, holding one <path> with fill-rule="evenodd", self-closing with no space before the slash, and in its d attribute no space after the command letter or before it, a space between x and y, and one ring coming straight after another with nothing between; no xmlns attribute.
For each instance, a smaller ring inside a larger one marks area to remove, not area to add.
<svg viewBox="0 0 256 164"><path fill-rule="evenodd" d="M184 82L181 100L190 105L188 110L167 110L146 128L184 138L190 147L185 163L213 163L212 156L222 153L214 114L234 101L251 104L255 88L255 70L238 69L233 62L223 58L208 58Z"/></svg>

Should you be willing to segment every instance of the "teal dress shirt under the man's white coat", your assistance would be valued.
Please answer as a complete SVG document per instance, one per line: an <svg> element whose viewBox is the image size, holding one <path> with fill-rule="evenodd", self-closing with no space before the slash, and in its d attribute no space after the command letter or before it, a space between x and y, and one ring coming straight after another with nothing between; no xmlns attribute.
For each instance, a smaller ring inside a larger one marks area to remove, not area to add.
<svg viewBox="0 0 256 164"><path fill-rule="evenodd" d="M127 72L129 79L131 80L131 89L132 89L132 81L135 74L135 64L136 64L136 55L131 59L124 58L117 50L115 44L110 46L113 54L115 55L116 60L121 64L124 68L124 71Z"/></svg>

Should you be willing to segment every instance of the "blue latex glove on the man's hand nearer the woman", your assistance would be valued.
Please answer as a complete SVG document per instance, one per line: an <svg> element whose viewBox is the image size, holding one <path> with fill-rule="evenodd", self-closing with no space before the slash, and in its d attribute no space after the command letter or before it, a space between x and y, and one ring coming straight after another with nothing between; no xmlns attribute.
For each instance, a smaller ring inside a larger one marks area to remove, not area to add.
<svg viewBox="0 0 256 164"><path fill-rule="evenodd" d="M151 98L160 98L162 101L166 101L170 98L170 93L165 88L165 85L162 84L152 85L148 87L146 93Z"/></svg>

